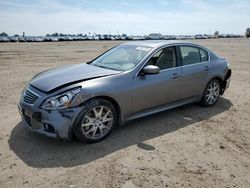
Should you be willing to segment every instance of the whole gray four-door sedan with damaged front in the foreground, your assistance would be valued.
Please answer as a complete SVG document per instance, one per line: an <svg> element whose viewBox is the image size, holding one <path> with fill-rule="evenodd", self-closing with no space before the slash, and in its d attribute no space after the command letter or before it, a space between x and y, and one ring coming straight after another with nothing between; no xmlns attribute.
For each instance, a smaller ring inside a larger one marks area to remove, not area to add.
<svg viewBox="0 0 250 188"><path fill-rule="evenodd" d="M213 106L230 77L227 60L205 47L130 42L87 64L37 74L22 92L19 112L31 131L98 142L128 120L192 102Z"/></svg>

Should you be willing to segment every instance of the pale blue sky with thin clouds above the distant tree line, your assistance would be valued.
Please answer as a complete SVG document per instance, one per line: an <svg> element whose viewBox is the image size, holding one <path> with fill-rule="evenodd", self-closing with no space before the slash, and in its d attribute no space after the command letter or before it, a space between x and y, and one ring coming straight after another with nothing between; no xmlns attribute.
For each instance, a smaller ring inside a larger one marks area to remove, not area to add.
<svg viewBox="0 0 250 188"><path fill-rule="evenodd" d="M9 35L244 34L250 0L0 0Z"/></svg>

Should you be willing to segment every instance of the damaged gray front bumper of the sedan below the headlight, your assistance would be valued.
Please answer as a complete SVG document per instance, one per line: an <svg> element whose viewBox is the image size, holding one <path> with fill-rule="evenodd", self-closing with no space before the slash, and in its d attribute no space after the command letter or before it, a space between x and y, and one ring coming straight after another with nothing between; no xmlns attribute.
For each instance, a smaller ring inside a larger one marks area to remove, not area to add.
<svg viewBox="0 0 250 188"><path fill-rule="evenodd" d="M70 140L72 130L79 108L64 110L34 110L29 105L20 102L19 113L24 126L32 132L36 132L51 138Z"/></svg>

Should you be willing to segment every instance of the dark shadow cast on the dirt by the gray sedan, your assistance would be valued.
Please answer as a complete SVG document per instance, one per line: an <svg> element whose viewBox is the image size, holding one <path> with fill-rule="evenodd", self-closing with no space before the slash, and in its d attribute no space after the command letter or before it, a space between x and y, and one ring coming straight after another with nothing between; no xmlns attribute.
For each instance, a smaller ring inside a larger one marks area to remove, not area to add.
<svg viewBox="0 0 250 188"><path fill-rule="evenodd" d="M221 97L211 108L190 104L168 110L131 121L115 129L105 140L95 144L49 139L29 132L20 122L12 130L8 142L10 149L29 166L73 167L95 161L135 144L140 149L152 151L155 149L154 146L143 142L209 119L229 110L231 106L229 100Z"/></svg>

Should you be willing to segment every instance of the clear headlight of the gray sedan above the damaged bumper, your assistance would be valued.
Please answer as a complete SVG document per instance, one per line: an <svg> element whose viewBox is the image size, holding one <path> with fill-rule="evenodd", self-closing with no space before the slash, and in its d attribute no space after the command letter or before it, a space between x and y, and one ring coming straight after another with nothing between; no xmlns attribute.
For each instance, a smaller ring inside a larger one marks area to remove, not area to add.
<svg viewBox="0 0 250 188"><path fill-rule="evenodd" d="M80 88L75 88L60 95L50 97L43 102L41 108L46 110L69 108L74 97L80 90Z"/></svg>

